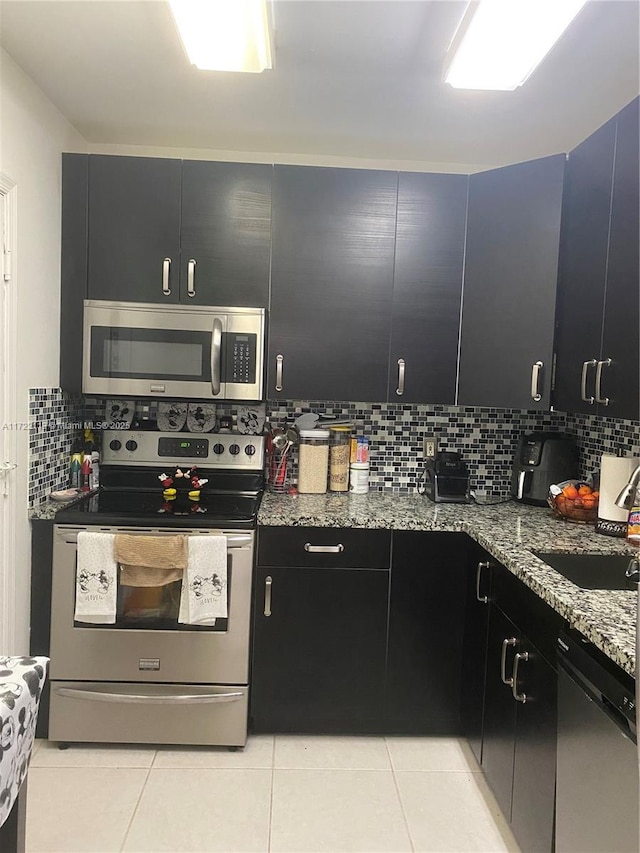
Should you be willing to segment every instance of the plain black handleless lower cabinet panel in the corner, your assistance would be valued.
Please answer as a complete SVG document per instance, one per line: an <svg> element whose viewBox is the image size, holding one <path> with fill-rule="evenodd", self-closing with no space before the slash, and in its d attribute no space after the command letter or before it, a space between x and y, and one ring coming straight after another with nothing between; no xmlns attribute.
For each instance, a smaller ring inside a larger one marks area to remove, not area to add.
<svg viewBox="0 0 640 853"><path fill-rule="evenodd" d="M393 534L386 731L461 731L466 558L459 534Z"/></svg>

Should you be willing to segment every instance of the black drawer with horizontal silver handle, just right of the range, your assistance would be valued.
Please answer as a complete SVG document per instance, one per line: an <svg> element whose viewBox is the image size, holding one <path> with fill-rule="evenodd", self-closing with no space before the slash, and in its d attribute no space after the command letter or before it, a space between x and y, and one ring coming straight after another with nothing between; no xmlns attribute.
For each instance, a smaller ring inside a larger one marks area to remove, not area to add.
<svg viewBox="0 0 640 853"><path fill-rule="evenodd" d="M391 531L340 527L261 527L259 566L388 569Z"/></svg>

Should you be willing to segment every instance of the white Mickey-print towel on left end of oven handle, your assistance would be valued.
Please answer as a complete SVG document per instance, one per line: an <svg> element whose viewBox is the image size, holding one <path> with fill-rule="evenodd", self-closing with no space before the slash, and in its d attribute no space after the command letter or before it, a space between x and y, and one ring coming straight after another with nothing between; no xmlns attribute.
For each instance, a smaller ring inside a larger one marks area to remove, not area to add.
<svg viewBox="0 0 640 853"><path fill-rule="evenodd" d="M118 564L113 533L78 533L76 622L97 625L116 621Z"/></svg>

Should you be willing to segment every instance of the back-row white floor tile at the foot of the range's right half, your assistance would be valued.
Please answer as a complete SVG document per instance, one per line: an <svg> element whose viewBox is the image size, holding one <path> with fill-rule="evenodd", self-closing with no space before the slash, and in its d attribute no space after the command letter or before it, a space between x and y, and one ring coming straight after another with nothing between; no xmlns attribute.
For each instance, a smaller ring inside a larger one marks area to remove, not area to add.
<svg viewBox="0 0 640 853"><path fill-rule="evenodd" d="M153 769L240 767L270 769L273 766L273 735L250 735L244 750L230 752L223 746L158 747Z"/></svg>

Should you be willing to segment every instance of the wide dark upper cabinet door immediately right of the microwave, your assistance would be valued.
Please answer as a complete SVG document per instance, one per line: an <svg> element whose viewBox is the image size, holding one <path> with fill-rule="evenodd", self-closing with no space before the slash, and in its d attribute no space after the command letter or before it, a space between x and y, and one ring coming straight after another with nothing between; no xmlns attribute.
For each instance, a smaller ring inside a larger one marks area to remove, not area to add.
<svg viewBox="0 0 640 853"><path fill-rule="evenodd" d="M387 398L397 180L275 167L270 400Z"/></svg>

